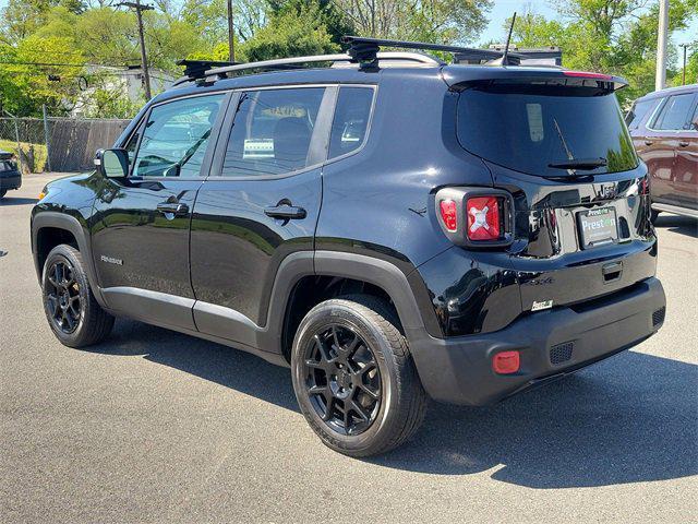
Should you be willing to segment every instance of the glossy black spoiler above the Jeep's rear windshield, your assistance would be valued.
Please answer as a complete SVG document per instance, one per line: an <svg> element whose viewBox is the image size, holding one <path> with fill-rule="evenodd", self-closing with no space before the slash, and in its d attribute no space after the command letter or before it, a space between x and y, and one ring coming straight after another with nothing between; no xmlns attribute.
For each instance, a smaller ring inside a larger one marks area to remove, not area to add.
<svg viewBox="0 0 698 524"><path fill-rule="evenodd" d="M445 66L442 69L442 74L448 86L456 91L465 90L472 84L496 81L518 81L521 83L549 82L551 85L589 86L611 92L618 91L628 85L628 82L622 76L553 68Z"/></svg>

